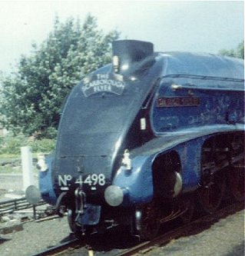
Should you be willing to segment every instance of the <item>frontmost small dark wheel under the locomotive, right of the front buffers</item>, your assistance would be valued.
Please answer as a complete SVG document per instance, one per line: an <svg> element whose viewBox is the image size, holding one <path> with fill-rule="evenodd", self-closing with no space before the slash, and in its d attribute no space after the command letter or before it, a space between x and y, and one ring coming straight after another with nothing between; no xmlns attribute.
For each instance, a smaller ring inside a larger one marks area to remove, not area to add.
<svg viewBox="0 0 245 256"><path fill-rule="evenodd" d="M151 240L157 236L160 228L160 210L152 201L135 212L137 235L142 241Z"/></svg>

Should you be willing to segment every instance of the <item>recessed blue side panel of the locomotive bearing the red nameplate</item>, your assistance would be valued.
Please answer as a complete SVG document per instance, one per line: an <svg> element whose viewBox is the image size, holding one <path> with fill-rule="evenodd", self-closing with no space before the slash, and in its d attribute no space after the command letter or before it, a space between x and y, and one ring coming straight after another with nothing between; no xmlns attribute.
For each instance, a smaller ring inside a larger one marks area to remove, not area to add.
<svg viewBox="0 0 245 256"><path fill-rule="evenodd" d="M152 127L157 135L204 126L210 126L210 132L215 129L222 131L223 128L229 129L228 125L232 129L232 125L244 124L241 81L228 83L220 79L217 85L212 78L205 83L201 78L192 79L186 88L178 85L179 82L178 78L161 81L151 112ZM186 82L181 81L182 84ZM240 88L233 91L237 85Z"/></svg>

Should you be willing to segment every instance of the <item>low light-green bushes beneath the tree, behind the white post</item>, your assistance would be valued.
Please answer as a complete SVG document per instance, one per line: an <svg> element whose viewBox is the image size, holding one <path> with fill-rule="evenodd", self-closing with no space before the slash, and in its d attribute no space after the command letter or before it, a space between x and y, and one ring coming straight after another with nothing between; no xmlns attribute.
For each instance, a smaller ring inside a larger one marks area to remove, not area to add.
<svg viewBox="0 0 245 256"><path fill-rule="evenodd" d="M30 146L33 153L49 153L55 148L55 140L44 138L30 140L24 135L0 137L0 155L21 155L21 147Z"/></svg>

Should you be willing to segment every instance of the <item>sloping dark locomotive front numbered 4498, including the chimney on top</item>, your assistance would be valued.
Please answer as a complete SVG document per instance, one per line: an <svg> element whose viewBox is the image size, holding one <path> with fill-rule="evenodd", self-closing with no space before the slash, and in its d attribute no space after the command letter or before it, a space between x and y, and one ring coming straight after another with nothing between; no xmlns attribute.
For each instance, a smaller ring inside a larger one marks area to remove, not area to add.
<svg viewBox="0 0 245 256"><path fill-rule="evenodd" d="M124 151L141 143L142 119L147 122L141 118L141 107L155 79L141 74L141 68L149 64L153 44L118 41L113 43L113 54L113 65L86 76L65 103L52 172L58 195L74 194L79 188L89 200L100 203Z"/></svg>

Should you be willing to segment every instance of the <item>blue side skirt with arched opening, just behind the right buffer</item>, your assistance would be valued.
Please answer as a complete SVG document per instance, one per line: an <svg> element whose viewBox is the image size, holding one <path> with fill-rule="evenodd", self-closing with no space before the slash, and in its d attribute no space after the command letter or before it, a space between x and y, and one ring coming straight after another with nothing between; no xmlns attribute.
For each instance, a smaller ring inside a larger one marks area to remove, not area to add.
<svg viewBox="0 0 245 256"><path fill-rule="evenodd" d="M168 146L167 141L164 148L158 148L152 155L142 155L132 159L132 169L126 170L121 167L114 177L113 185L124 188L127 191L124 206L143 204L151 201L153 196L152 164L154 159L163 152L176 151L180 155L181 177L183 178L182 192L190 192L197 189L200 182L200 151L207 136L195 138L179 143L176 147ZM172 138L174 140L174 138ZM177 138L175 138L177 141ZM163 142L163 141L161 141ZM169 142L168 142L169 143ZM155 148L156 149L156 148ZM151 154L152 151L147 151Z"/></svg>

